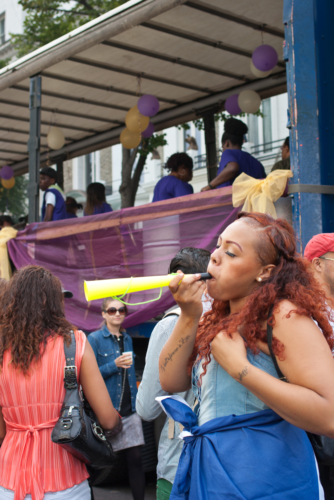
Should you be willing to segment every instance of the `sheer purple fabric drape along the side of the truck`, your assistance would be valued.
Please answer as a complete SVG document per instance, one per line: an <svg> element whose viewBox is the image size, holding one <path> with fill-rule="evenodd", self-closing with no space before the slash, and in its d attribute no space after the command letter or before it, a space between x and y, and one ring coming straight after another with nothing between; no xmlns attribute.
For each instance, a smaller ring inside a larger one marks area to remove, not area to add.
<svg viewBox="0 0 334 500"><path fill-rule="evenodd" d="M93 331L101 323L102 300L86 301L84 279L167 274L180 248L211 251L239 210L232 206L232 187L223 187L77 219L31 223L7 243L8 252L16 267L33 263L58 276L73 292L65 300L67 318ZM159 291L136 292L123 300L142 302ZM174 304L166 287L159 300L130 306L124 326L142 323Z"/></svg>

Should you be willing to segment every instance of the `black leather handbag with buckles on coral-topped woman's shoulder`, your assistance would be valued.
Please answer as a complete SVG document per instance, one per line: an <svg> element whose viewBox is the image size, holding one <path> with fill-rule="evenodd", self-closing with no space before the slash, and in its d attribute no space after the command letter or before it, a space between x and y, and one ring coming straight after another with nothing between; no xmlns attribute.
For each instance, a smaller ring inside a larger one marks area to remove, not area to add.
<svg viewBox="0 0 334 500"><path fill-rule="evenodd" d="M75 366L75 336L71 331L71 344L64 342L66 366L64 387L66 394L51 440L93 468L109 467L115 462L110 442L82 393L80 398Z"/></svg>

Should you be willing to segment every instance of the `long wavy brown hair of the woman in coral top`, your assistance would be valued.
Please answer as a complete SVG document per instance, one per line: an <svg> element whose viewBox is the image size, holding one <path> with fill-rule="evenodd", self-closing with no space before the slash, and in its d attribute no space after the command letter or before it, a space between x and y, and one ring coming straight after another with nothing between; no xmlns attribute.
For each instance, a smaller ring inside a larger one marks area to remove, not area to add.
<svg viewBox="0 0 334 500"><path fill-rule="evenodd" d="M10 363L27 374L43 355L49 337L70 343L75 326L65 319L64 297L59 278L38 265L18 269L1 293L0 365L10 349Z"/></svg>

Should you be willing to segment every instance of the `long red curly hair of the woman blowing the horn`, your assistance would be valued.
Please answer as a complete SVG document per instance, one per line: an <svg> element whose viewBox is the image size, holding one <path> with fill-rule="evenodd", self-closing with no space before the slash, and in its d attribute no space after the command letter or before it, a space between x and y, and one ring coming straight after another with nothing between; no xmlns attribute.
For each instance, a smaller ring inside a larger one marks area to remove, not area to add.
<svg viewBox="0 0 334 500"><path fill-rule="evenodd" d="M260 265L275 264L268 278L254 288L239 312L230 314L229 301L214 300L212 309L203 315L199 324L194 351L189 358L188 370L199 356L203 359L203 375L210 362L211 341L220 331L229 336L243 325L243 336L253 352L258 352L257 341L267 343L267 331L261 323L267 319L268 309L280 300L288 299L297 307L291 312L312 317L318 322L329 346L333 349L333 330L329 323L331 310L326 294L315 279L310 262L296 252L296 237L291 225L283 218L274 219L268 213L239 212L238 219L256 230L255 252ZM287 317L290 317L290 313ZM274 316L269 319L275 324ZM283 359L284 345L273 337L273 350Z"/></svg>

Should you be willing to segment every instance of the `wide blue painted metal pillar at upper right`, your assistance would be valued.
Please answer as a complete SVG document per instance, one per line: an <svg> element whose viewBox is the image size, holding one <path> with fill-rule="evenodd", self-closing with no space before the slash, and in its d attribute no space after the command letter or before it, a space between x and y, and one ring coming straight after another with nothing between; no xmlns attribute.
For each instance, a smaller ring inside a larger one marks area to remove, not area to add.
<svg viewBox="0 0 334 500"><path fill-rule="evenodd" d="M294 184L333 184L333 13L332 0L284 0ZM293 221L304 247L314 234L332 232L334 195L295 193Z"/></svg>

